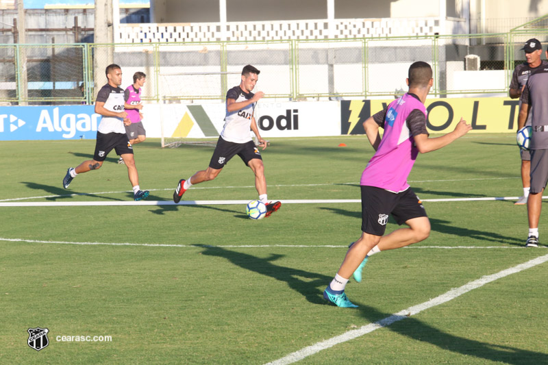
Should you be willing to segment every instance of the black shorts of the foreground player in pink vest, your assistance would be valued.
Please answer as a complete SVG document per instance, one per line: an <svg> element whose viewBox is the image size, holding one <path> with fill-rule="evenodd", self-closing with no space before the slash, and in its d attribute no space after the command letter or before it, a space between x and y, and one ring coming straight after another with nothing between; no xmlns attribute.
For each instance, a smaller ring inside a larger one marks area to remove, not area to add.
<svg viewBox="0 0 548 365"><path fill-rule="evenodd" d="M362 231L375 236L384 235L388 214L402 225L412 218L427 216L419 197L411 188L394 193L373 186L362 188Z"/></svg>

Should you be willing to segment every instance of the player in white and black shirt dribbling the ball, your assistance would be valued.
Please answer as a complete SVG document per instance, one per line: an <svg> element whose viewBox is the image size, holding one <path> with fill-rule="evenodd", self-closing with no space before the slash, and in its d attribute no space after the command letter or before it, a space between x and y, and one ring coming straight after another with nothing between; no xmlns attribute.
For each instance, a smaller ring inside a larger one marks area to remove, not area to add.
<svg viewBox="0 0 548 365"><path fill-rule="evenodd" d="M179 203L190 186L203 181L215 179L223 170L223 167L234 155L240 156L242 161L251 168L255 174L255 187L259 194L259 200L266 205L266 216L270 216L282 205L279 201L269 202L266 194L266 178L264 177L264 165L261 153L256 147L249 129L257 136L259 146L266 149L266 141L259 134L259 129L253 111L257 102L264 96L264 92L251 92L259 79L260 71L248 64L242 70L240 85L228 90L226 97L225 125L221 136L217 141L215 151L206 170L201 170L187 180L181 179L173 193L173 201Z"/></svg>

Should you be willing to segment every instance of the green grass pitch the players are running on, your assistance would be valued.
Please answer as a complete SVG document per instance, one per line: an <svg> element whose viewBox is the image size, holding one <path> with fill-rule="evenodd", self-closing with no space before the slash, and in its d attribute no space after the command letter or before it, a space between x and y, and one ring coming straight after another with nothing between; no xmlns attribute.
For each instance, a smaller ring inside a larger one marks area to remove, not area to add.
<svg viewBox="0 0 548 365"><path fill-rule="evenodd" d="M140 186L151 190L149 201L171 201L177 181L206 168L213 150L159 145L135 148ZM95 140L2 142L0 203L132 201L114 152L101 170L62 188L66 168L91 158L94 147ZM273 138L263 153L269 198L359 199L372 154L364 136ZM420 155L409 180L432 234L371 257L362 283L347 286L356 310L321 295L360 236L359 203L284 204L262 221L248 219L242 205L0 206L0 363L273 362L547 255L523 247L523 205L428 201L517 197L519 166L510 135L469 135ZM236 157L184 199L256 197L253 175ZM547 279L548 263L527 268L298 363L548 364ZM34 327L49 329L39 352L27 345Z"/></svg>

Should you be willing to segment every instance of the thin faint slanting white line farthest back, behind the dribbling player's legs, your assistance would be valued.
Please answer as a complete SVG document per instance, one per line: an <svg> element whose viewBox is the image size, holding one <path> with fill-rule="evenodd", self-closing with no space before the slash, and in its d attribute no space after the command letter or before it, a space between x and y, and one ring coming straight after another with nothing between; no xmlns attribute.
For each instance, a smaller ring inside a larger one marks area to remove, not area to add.
<svg viewBox="0 0 548 365"><path fill-rule="evenodd" d="M519 177L486 177L478 179L447 179L447 180L414 180L408 181L410 183L422 183L422 182L444 182L444 181L477 181L477 180L502 180L502 179L519 179ZM292 188L299 186L336 186L336 185L353 185L358 184L358 182L346 182L346 183L330 183L330 184L278 184L278 185L269 185L271 188ZM255 188L255 186L195 186L192 190L196 189L247 189ZM164 188L164 189L149 189L149 191L166 191L173 190L173 188ZM24 197L24 198L12 198L12 199L0 199L1 201L21 201L29 199L51 199L51 198L67 198L67 197L78 197L86 195L105 195L105 194L122 194L124 192L133 192L132 190L123 190L123 191L103 191L103 192L79 192L75 194L62 194L62 195L42 195L39 197ZM516 198L518 199L518 198Z"/></svg>

